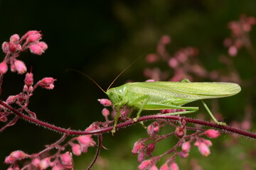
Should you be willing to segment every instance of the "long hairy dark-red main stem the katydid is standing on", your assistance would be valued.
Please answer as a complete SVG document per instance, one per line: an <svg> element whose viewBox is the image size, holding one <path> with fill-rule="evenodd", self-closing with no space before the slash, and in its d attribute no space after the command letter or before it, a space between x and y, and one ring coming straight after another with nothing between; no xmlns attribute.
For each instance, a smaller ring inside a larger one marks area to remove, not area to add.
<svg viewBox="0 0 256 170"><path fill-rule="evenodd" d="M41 120L35 119L35 118L31 118L28 115L24 115L23 113L17 111L15 108L12 108L11 106L9 106L7 103L5 103L4 101L0 100L0 105L4 106L5 108L9 109L11 112L15 113L19 118L23 118L24 120L28 120L31 123L36 123L36 125L41 125L45 128L49 128L51 130L55 130L58 132L62 132L62 133L68 133L69 135L94 135L94 134L100 134L100 133L104 133L104 132L110 132L113 127L107 127L107 128L102 128L100 130L91 130L91 131L78 131L78 130L67 130L65 128L59 128L55 125L50 125L48 123L45 123ZM237 128L232 128L228 125L217 125L215 123L209 123L203 120L196 120L196 119L192 119L192 118L185 118L185 117L181 117L181 116L176 116L176 115L145 115L141 118L138 119L138 121L136 123L139 123L141 121L145 121L145 120L178 120L180 121L181 119L186 120L187 123L194 123L194 124L198 124L198 125L204 125L204 126L208 126L210 128L216 128L219 130L224 130L226 132L230 132L230 133L236 133L239 135L243 135L245 137L251 137L256 139L256 134L252 133L252 132L247 132L245 130L239 130ZM133 125L134 120L128 120L124 123L119 123L116 127L116 129L119 128L124 128L128 125Z"/></svg>

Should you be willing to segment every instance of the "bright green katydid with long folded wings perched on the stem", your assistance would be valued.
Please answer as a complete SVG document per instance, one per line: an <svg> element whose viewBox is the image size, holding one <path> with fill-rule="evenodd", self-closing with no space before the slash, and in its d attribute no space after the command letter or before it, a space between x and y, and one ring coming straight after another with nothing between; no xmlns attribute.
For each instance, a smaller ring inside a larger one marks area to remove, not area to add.
<svg viewBox="0 0 256 170"><path fill-rule="evenodd" d="M238 84L224 82L190 82L183 79L181 82L174 81L151 81L127 83L122 86L107 89L105 94L110 98L114 108L117 109L117 115L114 118L115 132L117 119L120 116L120 109L124 106L136 108L137 121L140 113L144 110L162 110L162 109L185 109L186 111L168 113L165 115L181 115L186 113L195 113L198 107L183 106L186 103L201 100L203 106L218 125L226 125L218 122L209 108L204 103L206 98L223 98L233 96L240 92Z"/></svg>

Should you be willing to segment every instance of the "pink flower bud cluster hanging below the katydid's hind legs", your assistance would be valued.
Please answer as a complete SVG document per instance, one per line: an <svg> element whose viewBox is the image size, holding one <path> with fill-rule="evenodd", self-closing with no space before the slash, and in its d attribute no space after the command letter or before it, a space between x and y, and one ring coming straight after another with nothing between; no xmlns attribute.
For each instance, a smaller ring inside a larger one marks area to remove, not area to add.
<svg viewBox="0 0 256 170"><path fill-rule="evenodd" d="M175 132L171 132L168 135L158 135L159 128L172 125L176 127ZM157 130L154 130L154 129ZM178 165L175 162L175 157L179 156L181 158L187 158L189 156L189 151L191 149L191 143L194 142L194 145L198 147L199 152L204 157L207 157L210 154L209 147L212 146L212 142L210 140L204 139L202 136L206 135L210 138L216 138L220 136L220 132L218 130L203 130L200 128L189 128L190 130L196 130L191 134L186 134L186 122L181 120L181 125L175 125L174 123L166 122L164 120L155 121L148 126L149 138L141 139L134 143L134 147L132 149L133 154L138 155L138 162L141 163L139 165L139 170L145 169L157 169L156 162L158 162L161 157L164 157L168 154L173 154L172 157L169 157L167 161L161 166L161 170L164 169L178 169ZM178 143L173 148L167 150L164 154L159 156L152 157L152 152L156 149L156 145L161 140L166 139L167 137L171 137L176 135L178 137ZM179 151L180 150L180 151ZM146 159L149 157L149 159Z"/></svg>

